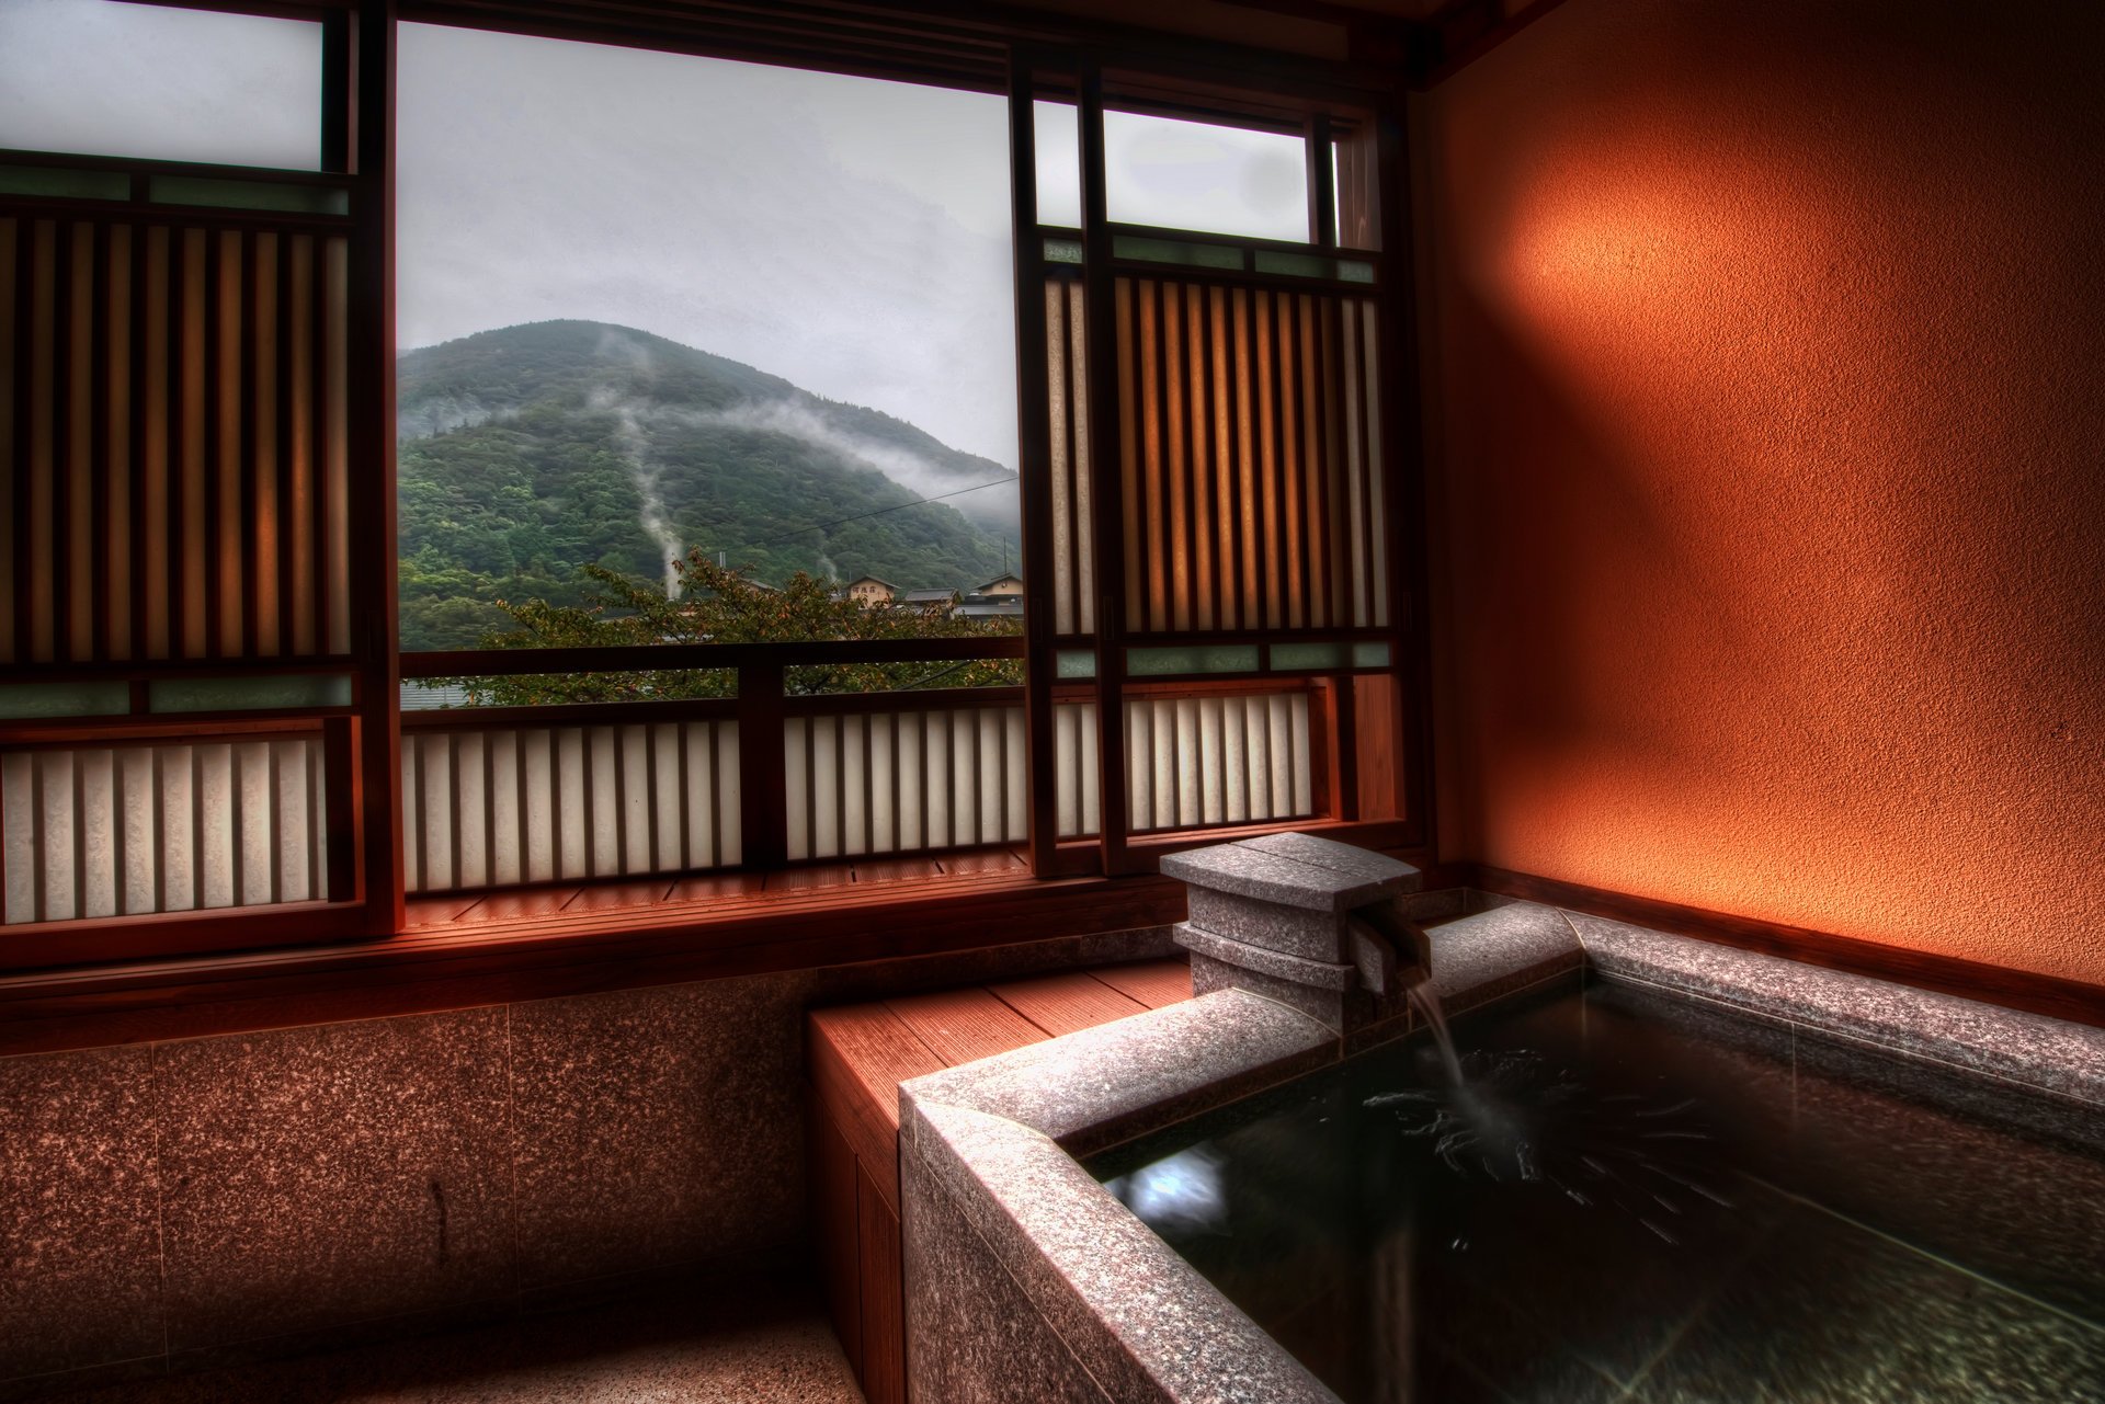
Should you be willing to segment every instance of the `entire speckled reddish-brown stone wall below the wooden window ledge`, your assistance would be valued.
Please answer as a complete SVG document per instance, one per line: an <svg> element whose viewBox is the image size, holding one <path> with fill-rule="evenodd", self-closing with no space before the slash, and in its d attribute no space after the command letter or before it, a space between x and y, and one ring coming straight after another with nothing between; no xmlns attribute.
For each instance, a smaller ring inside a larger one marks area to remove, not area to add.
<svg viewBox="0 0 2105 1404"><path fill-rule="evenodd" d="M0 1400L787 1248L808 1006L1172 949L1092 932L0 1059Z"/></svg>

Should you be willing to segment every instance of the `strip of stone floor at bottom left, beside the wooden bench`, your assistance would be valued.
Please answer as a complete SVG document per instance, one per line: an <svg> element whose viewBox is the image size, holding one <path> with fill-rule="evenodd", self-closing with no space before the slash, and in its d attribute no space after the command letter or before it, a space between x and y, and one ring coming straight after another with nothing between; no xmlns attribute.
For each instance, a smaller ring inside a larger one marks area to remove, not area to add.
<svg viewBox="0 0 2105 1404"><path fill-rule="evenodd" d="M53 1404L861 1404L817 1292L665 1295Z"/></svg>

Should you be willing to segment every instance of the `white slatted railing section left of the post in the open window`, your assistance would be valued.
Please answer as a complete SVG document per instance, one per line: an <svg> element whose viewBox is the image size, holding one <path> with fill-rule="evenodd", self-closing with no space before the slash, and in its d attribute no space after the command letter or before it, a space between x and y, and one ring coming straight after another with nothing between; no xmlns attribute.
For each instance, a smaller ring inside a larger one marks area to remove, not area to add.
<svg viewBox="0 0 2105 1404"><path fill-rule="evenodd" d="M733 867L739 724L410 730L410 892Z"/></svg>

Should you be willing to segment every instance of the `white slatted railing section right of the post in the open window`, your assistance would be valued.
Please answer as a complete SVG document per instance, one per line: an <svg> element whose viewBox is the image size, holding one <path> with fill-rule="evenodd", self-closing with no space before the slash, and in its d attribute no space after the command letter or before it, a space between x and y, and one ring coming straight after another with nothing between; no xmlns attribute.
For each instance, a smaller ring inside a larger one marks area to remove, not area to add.
<svg viewBox="0 0 2105 1404"><path fill-rule="evenodd" d="M1019 844L1029 831L1023 707L789 718L789 857Z"/></svg>

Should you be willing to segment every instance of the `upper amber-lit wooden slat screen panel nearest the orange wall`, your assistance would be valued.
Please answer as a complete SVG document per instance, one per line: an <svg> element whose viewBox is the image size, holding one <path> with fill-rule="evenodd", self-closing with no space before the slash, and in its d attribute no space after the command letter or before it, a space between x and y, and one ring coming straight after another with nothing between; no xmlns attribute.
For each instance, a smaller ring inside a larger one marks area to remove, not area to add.
<svg viewBox="0 0 2105 1404"><path fill-rule="evenodd" d="M1375 303L1116 280L1126 629L1387 627Z"/></svg>

